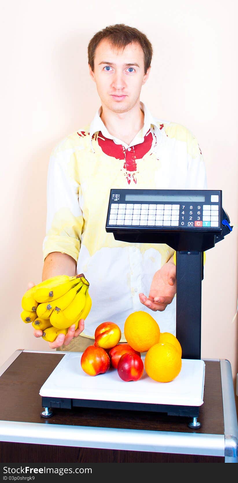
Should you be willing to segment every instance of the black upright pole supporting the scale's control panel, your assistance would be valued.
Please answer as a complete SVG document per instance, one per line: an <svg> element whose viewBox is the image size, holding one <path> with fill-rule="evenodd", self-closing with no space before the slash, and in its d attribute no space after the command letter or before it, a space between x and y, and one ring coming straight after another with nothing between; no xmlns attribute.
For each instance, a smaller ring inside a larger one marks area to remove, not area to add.
<svg viewBox="0 0 238 483"><path fill-rule="evenodd" d="M183 359L201 359L202 252L176 252L176 337Z"/></svg>

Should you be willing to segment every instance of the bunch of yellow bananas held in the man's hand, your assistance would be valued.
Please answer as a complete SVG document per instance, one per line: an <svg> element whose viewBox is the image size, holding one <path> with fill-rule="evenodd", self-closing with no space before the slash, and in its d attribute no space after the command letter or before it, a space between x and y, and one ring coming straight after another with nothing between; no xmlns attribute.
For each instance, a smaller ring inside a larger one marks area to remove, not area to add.
<svg viewBox="0 0 238 483"><path fill-rule="evenodd" d="M90 312L92 300L88 293L89 282L84 274L69 277L58 275L30 288L22 298L21 318L34 328L43 330L42 338L53 342L59 333Z"/></svg>

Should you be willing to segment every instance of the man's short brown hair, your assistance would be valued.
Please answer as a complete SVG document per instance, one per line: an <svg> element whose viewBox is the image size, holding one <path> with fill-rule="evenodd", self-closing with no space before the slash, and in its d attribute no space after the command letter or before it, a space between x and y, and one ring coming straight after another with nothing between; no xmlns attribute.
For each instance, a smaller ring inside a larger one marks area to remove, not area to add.
<svg viewBox="0 0 238 483"><path fill-rule="evenodd" d="M98 44L103 39L108 39L113 48L124 49L129 43L139 43L144 53L145 74L151 65L153 47L146 35L137 28L125 24L109 25L97 32L90 40L87 48L88 63L94 71L94 57Z"/></svg>

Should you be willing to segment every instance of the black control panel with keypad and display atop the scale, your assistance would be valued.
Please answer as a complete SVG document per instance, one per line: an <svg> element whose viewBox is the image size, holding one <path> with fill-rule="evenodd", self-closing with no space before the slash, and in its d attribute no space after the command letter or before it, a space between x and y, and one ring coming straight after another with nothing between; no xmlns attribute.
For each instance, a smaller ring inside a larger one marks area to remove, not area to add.
<svg viewBox="0 0 238 483"><path fill-rule="evenodd" d="M220 232L222 192L112 189L106 230L123 227Z"/></svg>

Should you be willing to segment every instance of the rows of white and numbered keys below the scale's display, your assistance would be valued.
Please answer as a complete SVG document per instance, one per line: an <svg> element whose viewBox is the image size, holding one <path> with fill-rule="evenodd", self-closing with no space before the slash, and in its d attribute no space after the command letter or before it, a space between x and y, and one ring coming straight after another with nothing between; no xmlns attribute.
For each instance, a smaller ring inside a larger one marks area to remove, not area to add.
<svg viewBox="0 0 238 483"><path fill-rule="evenodd" d="M214 200L215 201L215 200ZM113 203L109 225L147 227L218 227L219 205L196 203Z"/></svg>

